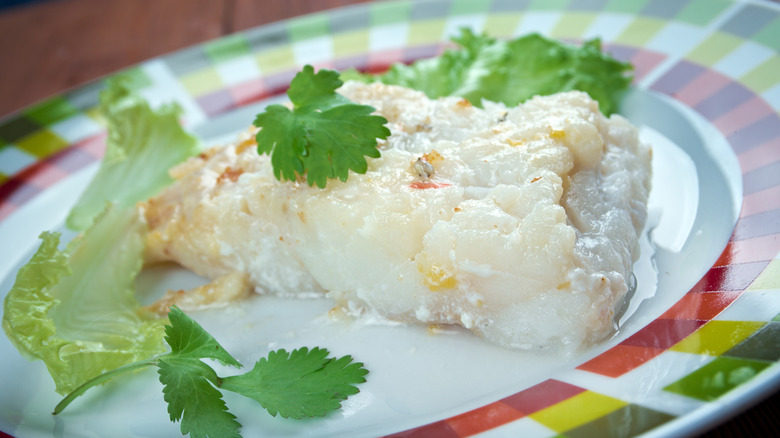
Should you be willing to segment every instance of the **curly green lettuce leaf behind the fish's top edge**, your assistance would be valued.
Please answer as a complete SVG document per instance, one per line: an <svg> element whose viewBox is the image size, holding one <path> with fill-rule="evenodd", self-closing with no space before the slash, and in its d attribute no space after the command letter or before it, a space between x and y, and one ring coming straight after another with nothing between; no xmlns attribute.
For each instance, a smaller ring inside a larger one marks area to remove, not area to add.
<svg viewBox="0 0 780 438"><path fill-rule="evenodd" d="M393 64L379 75L351 70L342 78L402 85L430 98L460 96L477 106L482 99L514 106L535 95L581 90L607 115L632 80L631 64L602 52L598 39L575 47L538 34L504 41L463 29L452 40L460 47L438 57Z"/></svg>

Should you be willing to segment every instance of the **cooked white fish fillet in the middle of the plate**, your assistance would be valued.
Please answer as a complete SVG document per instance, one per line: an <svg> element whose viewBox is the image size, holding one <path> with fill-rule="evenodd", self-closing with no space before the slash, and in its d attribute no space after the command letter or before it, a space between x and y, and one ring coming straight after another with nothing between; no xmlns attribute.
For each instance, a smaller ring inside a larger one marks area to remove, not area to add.
<svg viewBox="0 0 780 438"><path fill-rule="evenodd" d="M389 121L368 172L279 182L250 130L142 205L148 259L512 348L613 331L650 190L651 151L628 121L581 92L484 109L381 84L339 92Z"/></svg>

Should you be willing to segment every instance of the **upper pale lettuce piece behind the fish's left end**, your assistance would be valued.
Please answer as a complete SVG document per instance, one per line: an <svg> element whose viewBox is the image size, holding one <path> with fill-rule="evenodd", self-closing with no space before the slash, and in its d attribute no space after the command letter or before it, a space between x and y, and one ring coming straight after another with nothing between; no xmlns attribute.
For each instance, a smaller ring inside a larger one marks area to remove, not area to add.
<svg viewBox="0 0 780 438"><path fill-rule="evenodd" d="M109 81L100 95L108 123L106 153L97 175L66 220L72 230L84 230L106 201L129 207L173 182L168 169L195 155L198 140L179 124L177 105L153 110L121 80Z"/></svg>

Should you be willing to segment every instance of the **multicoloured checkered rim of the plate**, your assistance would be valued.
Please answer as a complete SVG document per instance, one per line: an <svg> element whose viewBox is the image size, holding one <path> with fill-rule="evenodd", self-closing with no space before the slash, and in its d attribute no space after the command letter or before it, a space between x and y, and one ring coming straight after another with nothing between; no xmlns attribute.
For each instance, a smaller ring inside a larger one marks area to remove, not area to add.
<svg viewBox="0 0 780 438"><path fill-rule="evenodd" d="M497 37L601 37L728 141L744 203L715 265L664 314L576 369L392 436L631 436L730 393L780 360L780 9L725 0L429 0L372 3L264 26L123 74L196 125L283 92L303 64L378 71L432 56L459 27ZM0 220L101 155L101 84L0 122ZM680 364L684 364L680 366ZM671 364L674 364L672 366ZM646 370L668 369L666 381ZM765 371L767 370L767 371ZM656 379L657 380L657 379ZM756 383L759 382L759 383ZM626 421L630 418L631 421ZM621 425L622 428L616 428Z"/></svg>

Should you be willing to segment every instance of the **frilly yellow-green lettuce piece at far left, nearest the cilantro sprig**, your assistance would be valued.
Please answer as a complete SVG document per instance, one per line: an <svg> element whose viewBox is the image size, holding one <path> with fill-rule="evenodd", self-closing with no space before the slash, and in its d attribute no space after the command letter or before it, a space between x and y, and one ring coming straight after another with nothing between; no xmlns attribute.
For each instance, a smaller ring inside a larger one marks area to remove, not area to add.
<svg viewBox="0 0 780 438"><path fill-rule="evenodd" d="M112 205L64 251L58 233L42 233L17 273L3 329L24 356L46 364L57 392L163 350L167 319L135 298L145 234L135 209Z"/></svg>

